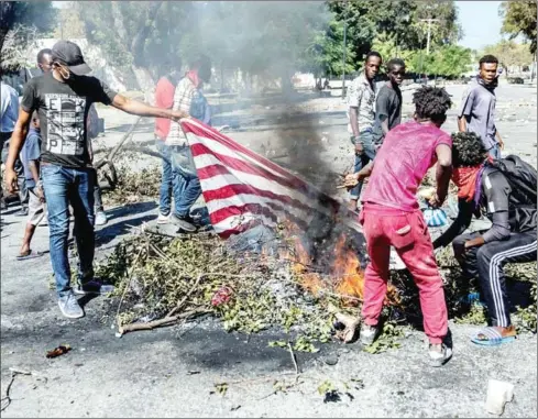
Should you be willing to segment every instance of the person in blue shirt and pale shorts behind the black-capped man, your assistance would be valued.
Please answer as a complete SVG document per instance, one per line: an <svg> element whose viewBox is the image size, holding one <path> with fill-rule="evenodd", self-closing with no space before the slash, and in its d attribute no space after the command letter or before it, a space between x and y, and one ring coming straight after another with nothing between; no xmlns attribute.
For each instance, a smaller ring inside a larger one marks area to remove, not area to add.
<svg viewBox="0 0 538 419"><path fill-rule="evenodd" d="M33 252L30 246L35 229L45 218L45 196L40 175L41 158L41 130L37 112L32 113L32 125L26 141L21 150L21 162L24 166L24 177L29 191L29 219L24 230L22 246L17 258L19 261L43 256L43 253Z"/></svg>

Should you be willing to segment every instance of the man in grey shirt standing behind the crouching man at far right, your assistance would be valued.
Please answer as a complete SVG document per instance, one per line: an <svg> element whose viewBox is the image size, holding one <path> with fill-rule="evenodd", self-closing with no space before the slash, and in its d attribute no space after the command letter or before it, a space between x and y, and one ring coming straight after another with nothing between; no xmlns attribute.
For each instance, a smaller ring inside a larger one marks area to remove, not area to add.
<svg viewBox="0 0 538 419"><path fill-rule="evenodd" d="M474 132L482 139L485 150L493 158L501 158L504 142L495 125L495 89L498 86L498 59L484 55L479 62L476 78L463 95L458 129L460 132Z"/></svg>

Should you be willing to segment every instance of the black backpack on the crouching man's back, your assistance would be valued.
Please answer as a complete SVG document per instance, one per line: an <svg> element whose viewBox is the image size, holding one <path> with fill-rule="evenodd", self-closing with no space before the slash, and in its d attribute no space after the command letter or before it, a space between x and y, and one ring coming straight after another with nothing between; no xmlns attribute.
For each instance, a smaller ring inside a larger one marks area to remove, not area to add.
<svg viewBox="0 0 538 419"><path fill-rule="evenodd" d="M506 177L512 188L510 195L519 205L536 208L536 168L512 154L505 158L494 161L490 165Z"/></svg>

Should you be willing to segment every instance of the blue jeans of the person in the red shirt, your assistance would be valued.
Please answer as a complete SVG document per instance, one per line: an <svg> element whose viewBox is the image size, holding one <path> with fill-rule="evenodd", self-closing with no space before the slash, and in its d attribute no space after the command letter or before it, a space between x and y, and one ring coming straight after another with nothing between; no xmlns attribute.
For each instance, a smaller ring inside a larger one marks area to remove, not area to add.
<svg viewBox="0 0 538 419"><path fill-rule="evenodd" d="M172 168L174 172L175 214L187 217L190 207L201 194L200 179L196 174L193 155L188 145L172 146Z"/></svg>

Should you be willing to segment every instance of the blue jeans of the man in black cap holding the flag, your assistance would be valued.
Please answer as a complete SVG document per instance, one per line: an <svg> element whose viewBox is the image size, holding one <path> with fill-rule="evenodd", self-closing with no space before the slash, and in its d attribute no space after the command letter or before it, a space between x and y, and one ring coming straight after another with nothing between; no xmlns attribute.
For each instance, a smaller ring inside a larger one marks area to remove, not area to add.
<svg viewBox="0 0 538 419"><path fill-rule="evenodd" d="M72 274L67 255L69 203L75 216L73 235L77 243L78 279L80 284L85 284L94 278L95 169L43 164L41 174L48 210L51 262L56 291L59 297L63 297L72 293Z"/></svg>

